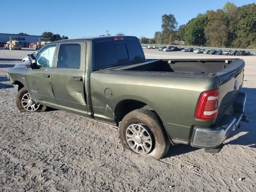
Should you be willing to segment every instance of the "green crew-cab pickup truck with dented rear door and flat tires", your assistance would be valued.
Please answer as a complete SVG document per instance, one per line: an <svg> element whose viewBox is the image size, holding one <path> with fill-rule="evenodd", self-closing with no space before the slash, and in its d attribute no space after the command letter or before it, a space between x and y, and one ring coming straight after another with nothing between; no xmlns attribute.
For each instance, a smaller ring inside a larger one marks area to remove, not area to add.
<svg viewBox="0 0 256 192"><path fill-rule="evenodd" d="M133 36L48 43L8 76L16 105L119 127L124 148L162 158L170 144L219 151L244 119L241 59L146 59ZM107 134L107 133L106 133Z"/></svg>

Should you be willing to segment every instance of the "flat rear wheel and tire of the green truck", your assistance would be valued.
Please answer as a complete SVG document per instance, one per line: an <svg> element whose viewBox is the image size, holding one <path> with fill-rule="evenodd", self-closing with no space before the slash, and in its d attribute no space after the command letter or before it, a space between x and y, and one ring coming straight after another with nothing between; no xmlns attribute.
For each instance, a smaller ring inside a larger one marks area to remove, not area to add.
<svg viewBox="0 0 256 192"><path fill-rule="evenodd" d="M142 134L135 133L140 130ZM146 109L137 109L124 116L119 126L119 136L124 148L154 159L165 156L170 147L170 140L159 117ZM150 142L151 145L147 144Z"/></svg>

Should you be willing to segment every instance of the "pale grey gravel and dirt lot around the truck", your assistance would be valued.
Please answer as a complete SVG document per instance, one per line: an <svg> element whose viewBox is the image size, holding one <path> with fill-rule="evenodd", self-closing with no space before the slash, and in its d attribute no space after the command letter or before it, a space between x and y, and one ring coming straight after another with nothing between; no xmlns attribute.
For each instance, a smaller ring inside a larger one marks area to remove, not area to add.
<svg viewBox="0 0 256 192"><path fill-rule="evenodd" d="M246 62L249 123L218 154L172 146L162 160L124 150L118 130L52 110L18 112L8 68L33 51L0 49L0 191L256 191L256 57ZM231 58L144 50L146 58Z"/></svg>

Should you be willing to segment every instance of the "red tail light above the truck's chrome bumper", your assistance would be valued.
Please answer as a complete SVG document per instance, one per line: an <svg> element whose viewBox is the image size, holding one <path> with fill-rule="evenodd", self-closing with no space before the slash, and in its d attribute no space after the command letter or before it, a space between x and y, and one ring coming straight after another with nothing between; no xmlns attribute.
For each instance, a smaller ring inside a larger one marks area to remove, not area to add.
<svg viewBox="0 0 256 192"><path fill-rule="evenodd" d="M196 119L213 120L218 115L219 90L203 92L200 95L197 108Z"/></svg>

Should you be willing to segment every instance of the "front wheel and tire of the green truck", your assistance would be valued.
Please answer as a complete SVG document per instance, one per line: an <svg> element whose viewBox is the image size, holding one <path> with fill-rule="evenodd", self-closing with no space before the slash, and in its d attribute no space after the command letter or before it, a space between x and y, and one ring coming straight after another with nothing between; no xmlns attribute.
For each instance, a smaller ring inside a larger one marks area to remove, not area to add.
<svg viewBox="0 0 256 192"><path fill-rule="evenodd" d="M24 101L26 99L28 99L28 102ZM29 102L32 103L30 104ZM18 110L24 112L45 112L48 109L48 107L45 105L36 104L30 97L30 94L25 87L21 88L16 95L16 106Z"/></svg>

